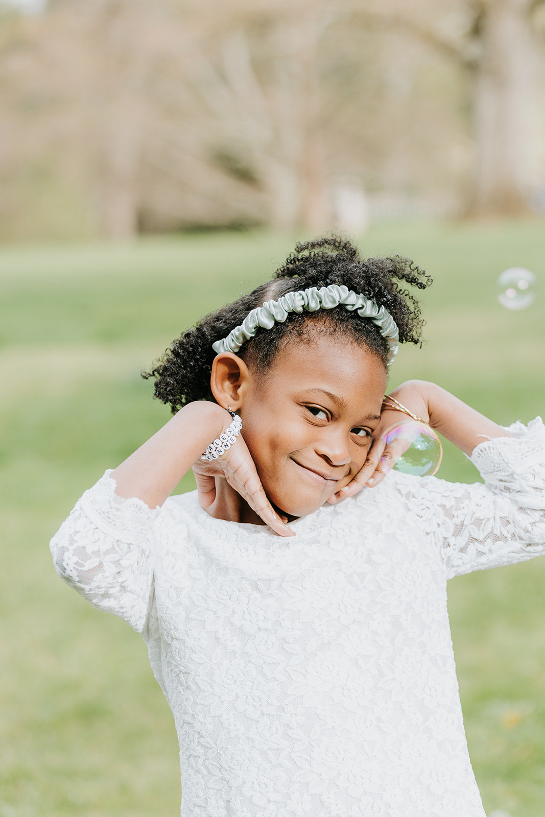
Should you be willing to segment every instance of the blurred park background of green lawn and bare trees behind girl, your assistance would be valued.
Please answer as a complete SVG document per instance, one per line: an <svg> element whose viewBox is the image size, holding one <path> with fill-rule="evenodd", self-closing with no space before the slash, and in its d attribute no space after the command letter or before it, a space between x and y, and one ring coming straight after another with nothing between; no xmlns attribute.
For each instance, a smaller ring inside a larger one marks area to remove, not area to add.
<svg viewBox="0 0 545 817"><path fill-rule="evenodd" d="M168 419L141 369L297 239L433 277L391 386L543 415L544 57L539 0L0 2L0 817L179 812L145 646L47 542ZM511 266L536 275L525 310L497 300ZM479 479L449 445L438 475ZM545 813L544 579L449 583L489 817Z"/></svg>

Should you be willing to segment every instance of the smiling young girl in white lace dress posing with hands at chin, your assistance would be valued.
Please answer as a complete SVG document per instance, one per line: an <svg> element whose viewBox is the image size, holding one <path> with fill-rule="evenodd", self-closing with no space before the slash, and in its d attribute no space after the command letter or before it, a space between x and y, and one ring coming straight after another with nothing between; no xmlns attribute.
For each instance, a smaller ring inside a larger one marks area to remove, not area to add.
<svg viewBox="0 0 545 817"><path fill-rule="evenodd" d="M147 376L174 417L51 540L62 578L148 645L182 817L485 815L446 580L545 553L545 430L429 382L385 398L422 324L404 287L427 283L340 239L298 244L172 345ZM388 474L404 412L485 484ZM170 497L190 468L197 491Z"/></svg>

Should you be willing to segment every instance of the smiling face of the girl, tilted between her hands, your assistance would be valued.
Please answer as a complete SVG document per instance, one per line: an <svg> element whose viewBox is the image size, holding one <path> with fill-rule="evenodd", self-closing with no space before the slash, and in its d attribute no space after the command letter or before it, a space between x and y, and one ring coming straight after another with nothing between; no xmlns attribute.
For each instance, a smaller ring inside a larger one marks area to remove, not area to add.
<svg viewBox="0 0 545 817"><path fill-rule="evenodd" d="M354 342L317 336L279 352L250 378L239 413L267 497L306 516L363 466L386 390L384 365Z"/></svg>

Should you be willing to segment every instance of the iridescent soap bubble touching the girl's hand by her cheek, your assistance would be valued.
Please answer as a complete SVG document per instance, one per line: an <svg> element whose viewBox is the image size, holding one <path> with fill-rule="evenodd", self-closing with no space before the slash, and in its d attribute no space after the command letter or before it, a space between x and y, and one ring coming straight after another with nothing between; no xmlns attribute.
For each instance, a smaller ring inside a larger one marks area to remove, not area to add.
<svg viewBox="0 0 545 817"><path fill-rule="evenodd" d="M425 422L402 420L382 435L396 458L395 471L413 476L431 476L440 467L443 446L436 432Z"/></svg>

